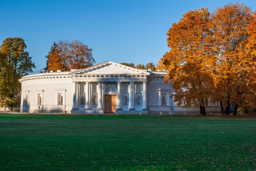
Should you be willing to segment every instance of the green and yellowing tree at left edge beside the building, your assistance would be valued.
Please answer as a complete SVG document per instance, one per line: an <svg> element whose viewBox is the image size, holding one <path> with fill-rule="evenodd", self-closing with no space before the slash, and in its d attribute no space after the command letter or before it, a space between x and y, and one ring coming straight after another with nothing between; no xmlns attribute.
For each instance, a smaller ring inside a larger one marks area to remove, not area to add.
<svg viewBox="0 0 256 171"><path fill-rule="evenodd" d="M6 105L11 110L20 105L19 78L31 73L32 68L35 68L25 49L23 38L6 38L0 46L1 105Z"/></svg>

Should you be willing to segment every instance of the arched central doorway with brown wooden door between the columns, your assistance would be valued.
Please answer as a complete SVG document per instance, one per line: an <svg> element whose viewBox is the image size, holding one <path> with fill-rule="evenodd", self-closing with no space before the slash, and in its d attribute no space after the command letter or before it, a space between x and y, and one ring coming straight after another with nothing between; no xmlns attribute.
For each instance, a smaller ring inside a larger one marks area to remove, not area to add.
<svg viewBox="0 0 256 171"><path fill-rule="evenodd" d="M104 113L116 113L117 88L113 84L104 88Z"/></svg>

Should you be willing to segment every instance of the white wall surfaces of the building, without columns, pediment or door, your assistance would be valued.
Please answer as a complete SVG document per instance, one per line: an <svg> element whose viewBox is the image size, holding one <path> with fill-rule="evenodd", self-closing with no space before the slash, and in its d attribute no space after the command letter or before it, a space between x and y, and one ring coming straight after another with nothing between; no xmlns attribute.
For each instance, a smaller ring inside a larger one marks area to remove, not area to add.
<svg viewBox="0 0 256 171"><path fill-rule="evenodd" d="M68 73L57 73L59 76L53 76L53 73L44 73L46 77L41 77L43 74L36 74L38 78L34 78L31 80L21 81L21 112L29 112L29 113L71 113L73 108L73 82L71 78L68 76ZM52 75L52 76L51 76ZM50 77L51 76L51 77ZM33 76L26 76L26 78L33 78ZM78 86L78 104L77 108L81 113L84 112L84 105L81 105L81 95L85 95L86 88L85 83L79 83ZM124 84L127 85L127 88L124 88ZM93 89L94 85L94 89ZM93 93L98 94L98 83L91 83L92 93L89 98L92 100ZM103 90L107 86L115 86L117 88L117 83L104 83ZM124 94L129 95L130 93L130 83L123 82L121 86L121 104L123 108L123 112L119 113L134 113L134 111L129 111L129 106L124 105ZM94 91L95 92L94 92ZM58 105L58 93L63 95L63 104ZM104 92L103 92L104 93ZM111 93L111 92L110 92ZM165 85L163 75L149 76L147 83L147 113L150 114L168 114L170 113L171 101L170 96L174 93L173 88L170 85ZM38 100L41 94L41 105L39 105ZM138 101L136 101L136 95L140 96L140 105ZM135 110L143 112L143 83L135 83L134 87L134 108ZM162 98L165 95L165 105L162 104ZM28 97L28 104L26 105L26 97ZM130 98L130 97L128 97ZM129 100L128 100L129 101ZM92 103L89 104L91 110L97 110L98 106L93 106ZM104 106L104 101L103 101ZM220 105L208 103L206 106L207 113L220 113ZM176 103L173 103L173 109L175 114L199 114L200 110L198 107L196 108L182 108L178 106Z"/></svg>

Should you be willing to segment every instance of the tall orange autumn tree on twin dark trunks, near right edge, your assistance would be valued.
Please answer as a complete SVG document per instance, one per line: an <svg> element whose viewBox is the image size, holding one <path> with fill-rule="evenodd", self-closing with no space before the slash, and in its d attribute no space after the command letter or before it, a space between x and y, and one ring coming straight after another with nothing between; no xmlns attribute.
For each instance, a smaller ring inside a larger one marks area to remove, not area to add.
<svg viewBox="0 0 256 171"><path fill-rule="evenodd" d="M253 60L245 51L252 14L244 4L227 4L217 8L211 19L216 54L209 66L215 81L214 98L225 106L225 115L230 113L230 104L234 106L233 114L236 115L238 105L248 90L249 63Z"/></svg>

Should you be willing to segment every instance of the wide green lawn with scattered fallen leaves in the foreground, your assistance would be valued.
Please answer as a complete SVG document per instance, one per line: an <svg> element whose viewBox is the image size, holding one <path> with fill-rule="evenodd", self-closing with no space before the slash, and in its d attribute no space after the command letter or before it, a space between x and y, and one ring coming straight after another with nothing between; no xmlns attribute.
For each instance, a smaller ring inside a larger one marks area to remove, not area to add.
<svg viewBox="0 0 256 171"><path fill-rule="evenodd" d="M256 117L0 114L0 170L256 170Z"/></svg>

